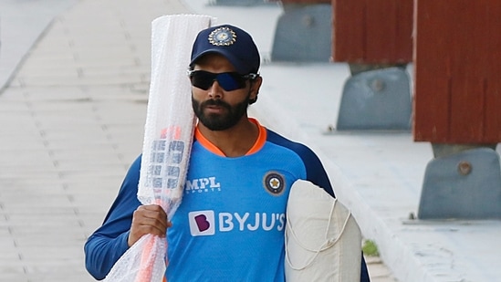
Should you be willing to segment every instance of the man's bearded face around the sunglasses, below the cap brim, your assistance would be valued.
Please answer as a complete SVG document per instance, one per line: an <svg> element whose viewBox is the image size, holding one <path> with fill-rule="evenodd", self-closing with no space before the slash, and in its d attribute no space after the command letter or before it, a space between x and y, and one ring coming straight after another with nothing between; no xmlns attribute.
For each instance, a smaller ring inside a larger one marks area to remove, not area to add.
<svg viewBox="0 0 501 282"><path fill-rule="evenodd" d="M234 72L231 63L220 55L209 54L202 57L194 70L211 73ZM217 80L208 89L192 88L193 111L200 122L211 131L224 131L246 119L249 100L254 96L248 80L242 89L224 90Z"/></svg>

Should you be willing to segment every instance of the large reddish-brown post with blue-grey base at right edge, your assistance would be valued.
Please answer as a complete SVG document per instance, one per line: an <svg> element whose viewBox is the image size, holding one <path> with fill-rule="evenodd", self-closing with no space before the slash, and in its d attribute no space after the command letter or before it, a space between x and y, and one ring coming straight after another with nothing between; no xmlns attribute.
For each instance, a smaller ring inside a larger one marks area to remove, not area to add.
<svg viewBox="0 0 501 282"><path fill-rule="evenodd" d="M415 1L413 136L429 141L418 216L501 217L501 2Z"/></svg>

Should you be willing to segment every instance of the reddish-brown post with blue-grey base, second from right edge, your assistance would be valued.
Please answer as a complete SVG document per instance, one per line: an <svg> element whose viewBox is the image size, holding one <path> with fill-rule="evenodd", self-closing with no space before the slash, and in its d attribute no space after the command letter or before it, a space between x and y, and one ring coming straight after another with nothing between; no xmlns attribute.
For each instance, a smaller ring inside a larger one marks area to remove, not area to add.
<svg viewBox="0 0 501 282"><path fill-rule="evenodd" d="M412 0L332 0L332 57L350 65L337 130L411 130Z"/></svg>

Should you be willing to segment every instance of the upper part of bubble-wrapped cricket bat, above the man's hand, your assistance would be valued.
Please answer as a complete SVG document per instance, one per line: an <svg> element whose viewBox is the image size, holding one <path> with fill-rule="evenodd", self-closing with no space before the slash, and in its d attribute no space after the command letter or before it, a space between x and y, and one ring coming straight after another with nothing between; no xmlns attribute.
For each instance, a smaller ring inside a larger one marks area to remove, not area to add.
<svg viewBox="0 0 501 282"><path fill-rule="evenodd" d="M210 16L162 16L152 22L151 86L138 199L172 216L183 196L195 117L186 70L194 38Z"/></svg>

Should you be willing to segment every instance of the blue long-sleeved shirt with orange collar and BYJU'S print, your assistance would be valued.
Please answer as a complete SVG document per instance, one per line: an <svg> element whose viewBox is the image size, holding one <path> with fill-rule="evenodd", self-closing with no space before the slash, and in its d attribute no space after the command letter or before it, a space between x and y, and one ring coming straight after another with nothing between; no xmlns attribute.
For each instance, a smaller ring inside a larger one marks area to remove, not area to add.
<svg viewBox="0 0 501 282"><path fill-rule="evenodd" d="M334 196L313 151L252 121L260 129L256 144L236 158L225 157L195 132L183 201L168 229L168 281L285 281L285 214L292 183L308 180ZM140 205L140 166L141 156L85 245L86 266L98 279L128 249L132 213ZM362 263L361 281L368 280Z"/></svg>

